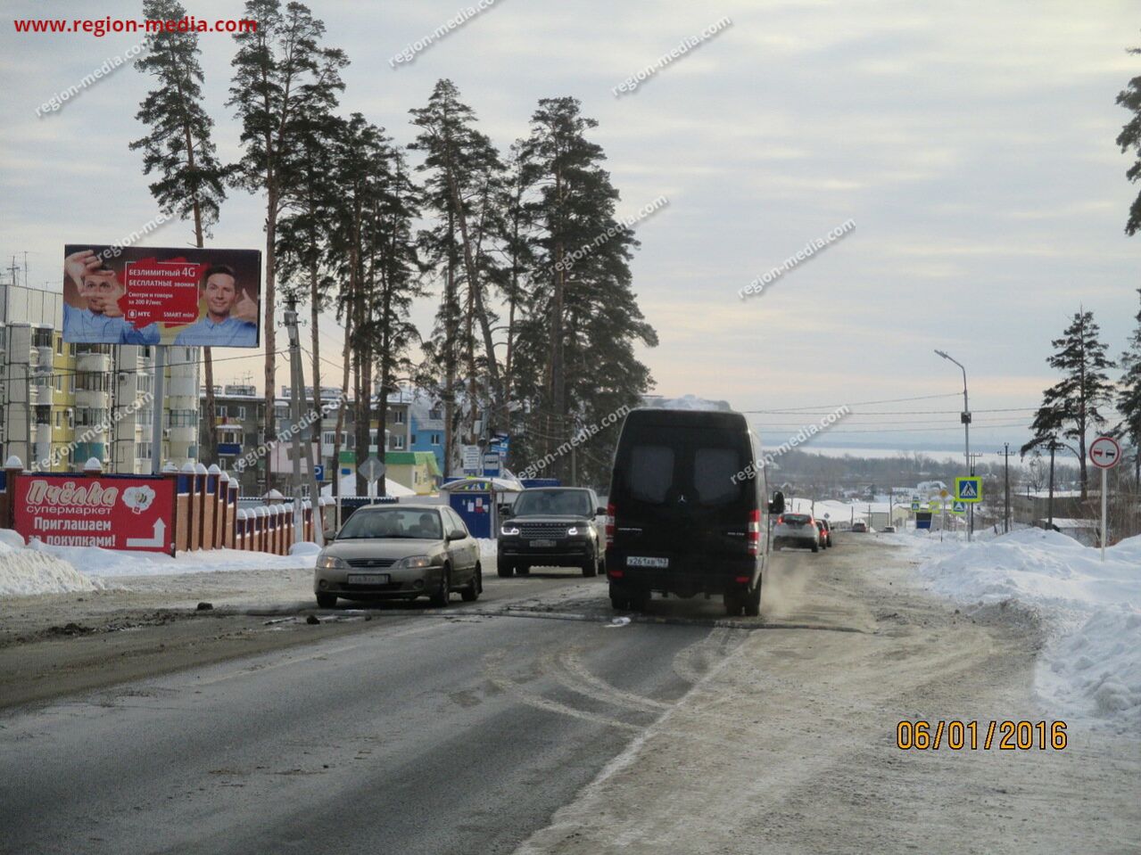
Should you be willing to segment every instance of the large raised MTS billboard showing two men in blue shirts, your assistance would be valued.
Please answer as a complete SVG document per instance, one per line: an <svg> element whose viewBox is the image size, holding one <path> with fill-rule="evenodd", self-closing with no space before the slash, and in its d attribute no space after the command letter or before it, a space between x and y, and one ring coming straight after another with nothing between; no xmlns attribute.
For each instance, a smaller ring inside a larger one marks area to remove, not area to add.
<svg viewBox="0 0 1141 855"><path fill-rule="evenodd" d="M64 246L64 341L256 348L261 252Z"/></svg>

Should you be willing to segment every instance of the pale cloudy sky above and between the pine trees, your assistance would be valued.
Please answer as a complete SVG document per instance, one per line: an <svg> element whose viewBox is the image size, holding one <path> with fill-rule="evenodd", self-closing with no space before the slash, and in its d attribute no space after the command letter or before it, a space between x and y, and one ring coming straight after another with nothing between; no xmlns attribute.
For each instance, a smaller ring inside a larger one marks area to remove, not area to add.
<svg viewBox="0 0 1141 855"><path fill-rule="evenodd" d="M186 5L211 22L242 17L238 2ZM9 18L133 18L141 8L5 6ZM1141 46L1135 3L495 0L413 62L389 64L464 7L313 0L325 43L351 63L341 109L407 144L407 111L450 78L505 149L540 98L578 98L599 123L592 139L620 213L669 199L637 226L632 263L659 336L638 351L654 392L768 410L752 415L768 445L848 405L815 442L954 449L962 374L938 348L966 367L972 447L989 454L1028 438L1057 380L1051 340L1079 308L1094 312L1111 355L1126 345L1141 236L1126 237L1124 223L1141 188L1126 181L1133 157L1114 140L1128 119L1117 92L1141 74L1141 56L1126 52ZM636 91L614 93L725 17ZM149 81L127 65L58 112L35 108L140 36L0 24L0 260L22 263L26 252L30 283L58 287L65 243L112 243L157 213L141 155L128 149L144 133L135 113ZM236 160L225 107L233 39L204 33L200 44L216 141ZM264 218L262 198L234 192L213 245L262 247ZM760 295L738 295L847 220L855 228L842 239ZM176 221L146 243L191 241ZM434 310L431 300L414 309L424 334ZM332 318L321 326L335 361L340 332ZM260 364L230 351L216 377L260 385ZM283 360L278 385L285 377Z"/></svg>

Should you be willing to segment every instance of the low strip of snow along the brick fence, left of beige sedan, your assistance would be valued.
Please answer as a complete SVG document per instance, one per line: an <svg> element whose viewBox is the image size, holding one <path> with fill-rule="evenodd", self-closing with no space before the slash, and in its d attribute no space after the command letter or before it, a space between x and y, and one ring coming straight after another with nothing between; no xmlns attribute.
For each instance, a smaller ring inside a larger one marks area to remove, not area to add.
<svg viewBox="0 0 1141 855"><path fill-rule="evenodd" d="M95 577L172 576L175 573L216 573L238 570L311 570L315 552L298 555L270 555L244 549L180 552L176 557L157 552L116 552L98 546L48 546L33 540L29 551L59 559Z"/></svg>

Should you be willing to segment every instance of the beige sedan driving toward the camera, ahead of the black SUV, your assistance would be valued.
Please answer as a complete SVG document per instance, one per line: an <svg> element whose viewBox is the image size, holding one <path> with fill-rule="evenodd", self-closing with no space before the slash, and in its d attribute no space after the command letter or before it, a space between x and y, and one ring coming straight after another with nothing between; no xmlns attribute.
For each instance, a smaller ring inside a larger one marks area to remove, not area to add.
<svg viewBox="0 0 1141 855"><path fill-rule="evenodd" d="M415 600L447 605L453 591L479 597L479 543L443 505L366 505L354 512L317 555L317 605L345 600Z"/></svg>

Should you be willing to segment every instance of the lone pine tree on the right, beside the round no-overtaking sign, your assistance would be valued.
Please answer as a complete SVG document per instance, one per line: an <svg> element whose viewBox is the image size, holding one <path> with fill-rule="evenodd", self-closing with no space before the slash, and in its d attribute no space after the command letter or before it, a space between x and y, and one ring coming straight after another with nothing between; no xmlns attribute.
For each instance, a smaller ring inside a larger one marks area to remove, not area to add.
<svg viewBox="0 0 1141 855"><path fill-rule="evenodd" d="M1060 443L1077 456L1082 481L1082 498L1086 498L1086 439L1087 432L1106 423L1100 408L1109 404L1112 384L1106 374L1114 363L1106 358L1106 345L1099 341L1100 329L1093 312L1081 310L1066 328L1061 339L1054 339L1054 353L1046 360L1050 367L1062 372L1062 380L1050 386L1042 399L1042 407L1034 417L1034 437L1022 446L1021 453L1039 446ZM1059 438L1074 440L1076 446Z"/></svg>

